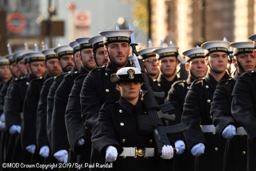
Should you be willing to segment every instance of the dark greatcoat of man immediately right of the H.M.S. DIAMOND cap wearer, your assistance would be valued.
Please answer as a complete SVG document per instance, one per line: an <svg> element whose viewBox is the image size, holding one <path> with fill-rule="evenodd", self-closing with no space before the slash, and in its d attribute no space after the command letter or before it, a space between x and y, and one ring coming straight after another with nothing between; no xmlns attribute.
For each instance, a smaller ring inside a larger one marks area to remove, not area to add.
<svg viewBox="0 0 256 171"><path fill-rule="evenodd" d="M226 126L234 125L236 129L240 127L231 114L232 91L239 75L240 74L236 72L233 79L221 81L213 95L210 114L213 118L216 132L222 138L224 138L222 132ZM223 171L246 170L246 151L247 135L236 135L228 139L224 153Z"/></svg>

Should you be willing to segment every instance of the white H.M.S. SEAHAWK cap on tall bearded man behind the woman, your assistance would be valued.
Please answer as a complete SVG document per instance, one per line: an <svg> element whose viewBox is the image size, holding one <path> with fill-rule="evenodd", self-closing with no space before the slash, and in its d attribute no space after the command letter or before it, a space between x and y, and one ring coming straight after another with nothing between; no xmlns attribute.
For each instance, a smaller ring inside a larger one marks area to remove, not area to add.
<svg viewBox="0 0 256 171"><path fill-rule="evenodd" d="M127 42L131 43L130 34L132 34L132 30L108 30L100 32L102 35L104 45L107 43L115 43L115 42Z"/></svg>

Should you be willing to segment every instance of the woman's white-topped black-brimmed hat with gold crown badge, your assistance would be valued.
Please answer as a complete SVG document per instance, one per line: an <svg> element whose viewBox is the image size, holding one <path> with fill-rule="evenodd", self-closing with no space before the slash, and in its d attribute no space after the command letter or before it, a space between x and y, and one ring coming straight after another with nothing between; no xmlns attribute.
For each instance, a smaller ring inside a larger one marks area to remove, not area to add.
<svg viewBox="0 0 256 171"><path fill-rule="evenodd" d="M141 71L134 67L121 68L116 72L116 74L112 74L110 78L113 83L144 82Z"/></svg>

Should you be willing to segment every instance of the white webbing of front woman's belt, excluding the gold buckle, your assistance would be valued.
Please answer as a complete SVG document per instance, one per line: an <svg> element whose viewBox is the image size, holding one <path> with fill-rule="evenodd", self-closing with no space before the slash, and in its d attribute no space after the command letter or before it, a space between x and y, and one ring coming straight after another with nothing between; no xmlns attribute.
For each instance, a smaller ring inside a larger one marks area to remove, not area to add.
<svg viewBox="0 0 256 171"><path fill-rule="evenodd" d="M136 156L136 147L123 147L124 151L119 156L129 156L135 157ZM144 150L144 149L142 149ZM155 149L154 148L145 148L145 157L154 157L155 156Z"/></svg>

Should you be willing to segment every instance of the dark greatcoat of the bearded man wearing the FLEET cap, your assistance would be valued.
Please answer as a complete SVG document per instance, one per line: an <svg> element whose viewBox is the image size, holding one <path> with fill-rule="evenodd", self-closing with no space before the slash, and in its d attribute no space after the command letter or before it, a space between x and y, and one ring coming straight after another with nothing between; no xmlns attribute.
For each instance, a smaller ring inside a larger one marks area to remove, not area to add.
<svg viewBox="0 0 256 171"><path fill-rule="evenodd" d="M72 150L69 150L69 142L67 137L67 128L65 123L65 112L68 103L68 97L74 84L74 80L80 74L88 74L88 71L83 66L79 71L67 74L54 96L54 108L52 114L52 154L59 150L69 151L69 163L77 162L77 155L74 155ZM71 168L70 168L71 169ZM76 168L73 168L76 170Z"/></svg>

